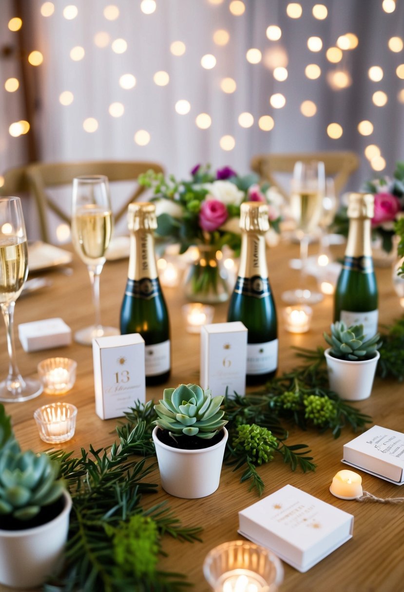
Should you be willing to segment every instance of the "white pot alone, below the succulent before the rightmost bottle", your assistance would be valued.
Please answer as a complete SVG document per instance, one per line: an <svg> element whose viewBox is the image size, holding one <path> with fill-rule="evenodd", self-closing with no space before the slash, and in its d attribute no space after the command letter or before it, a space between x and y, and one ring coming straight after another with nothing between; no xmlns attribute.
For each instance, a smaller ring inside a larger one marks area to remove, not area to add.
<svg viewBox="0 0 404 592"><path fill-rule="evenodd" d="M331 390L347 401L361 401L370 397L380 353L376 351L374 358L355 362L334 358L329 354L330 350L328 348L324 353Z"/></svg>

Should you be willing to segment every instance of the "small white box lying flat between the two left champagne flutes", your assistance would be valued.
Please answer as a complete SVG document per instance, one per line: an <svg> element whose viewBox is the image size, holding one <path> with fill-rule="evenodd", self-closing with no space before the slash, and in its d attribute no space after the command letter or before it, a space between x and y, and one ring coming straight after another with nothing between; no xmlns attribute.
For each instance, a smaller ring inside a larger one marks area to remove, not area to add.
<svg viewBox="0 0 404 592"><path fill-rule="evenodd" d="M18 325L18 337L25 352L59 348L72 343L72 332L62 318L21 323Z"/></svg>

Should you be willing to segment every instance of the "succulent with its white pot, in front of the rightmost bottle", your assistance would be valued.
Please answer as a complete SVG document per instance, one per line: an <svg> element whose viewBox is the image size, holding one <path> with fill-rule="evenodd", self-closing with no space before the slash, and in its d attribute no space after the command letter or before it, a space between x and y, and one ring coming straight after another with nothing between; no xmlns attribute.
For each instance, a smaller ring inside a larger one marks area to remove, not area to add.
<svg viewBox="0 0 404 592"><path fill-rule="evenodd" d="M363 325L347 327L343 321L324 333L331 347L325 350L329 386L342 399L361 401L370 397L381 346L379 333L366 340Z"/></svg>

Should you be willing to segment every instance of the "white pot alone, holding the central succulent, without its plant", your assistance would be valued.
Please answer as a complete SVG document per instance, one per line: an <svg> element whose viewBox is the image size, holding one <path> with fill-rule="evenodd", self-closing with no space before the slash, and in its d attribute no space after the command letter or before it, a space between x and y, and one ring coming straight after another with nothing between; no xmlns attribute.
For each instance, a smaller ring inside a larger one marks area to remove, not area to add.
<svg viewBox="0 0 404 592"><path fill-rule="evenodd" d="M188 499L210 496L216 491L229 437L226 428L222 428L224 434L220 442L199 450L181 450L167 446L157 437L159 429L156 426L153 430L153 441L162 488L172 496Z"/></svg>

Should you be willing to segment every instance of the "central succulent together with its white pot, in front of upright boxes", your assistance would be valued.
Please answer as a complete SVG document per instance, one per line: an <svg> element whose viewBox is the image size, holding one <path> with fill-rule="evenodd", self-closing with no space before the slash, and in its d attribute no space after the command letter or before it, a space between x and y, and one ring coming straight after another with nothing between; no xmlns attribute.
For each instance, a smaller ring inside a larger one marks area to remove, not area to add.
<svg viewBox="0 0 404 592"><path fill-rule="evenodd" d="M153 441L163 489L172 496L209 496L219 487L227 437L224 397L197 384L165 388L155 410Z"/></svg>

